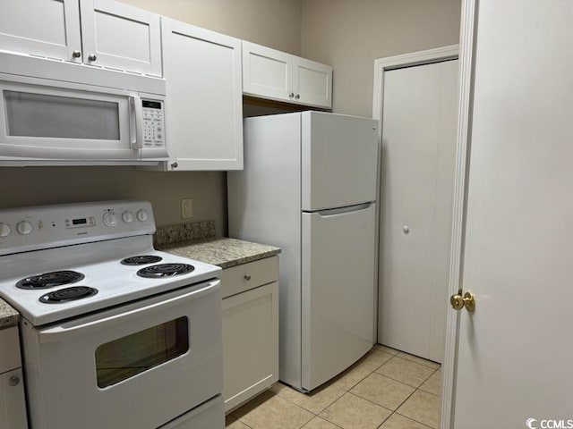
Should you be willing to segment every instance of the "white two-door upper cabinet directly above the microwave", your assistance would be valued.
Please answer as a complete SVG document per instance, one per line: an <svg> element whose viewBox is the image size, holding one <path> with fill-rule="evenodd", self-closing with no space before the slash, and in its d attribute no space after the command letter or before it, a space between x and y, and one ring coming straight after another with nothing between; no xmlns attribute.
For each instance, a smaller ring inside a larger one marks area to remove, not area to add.
<svg viewBox="0 0 573 429"><path fill-rule="evenodd" d="M112 0L21 0L0 13L0 49L161 76L159 16Z"/></svg>

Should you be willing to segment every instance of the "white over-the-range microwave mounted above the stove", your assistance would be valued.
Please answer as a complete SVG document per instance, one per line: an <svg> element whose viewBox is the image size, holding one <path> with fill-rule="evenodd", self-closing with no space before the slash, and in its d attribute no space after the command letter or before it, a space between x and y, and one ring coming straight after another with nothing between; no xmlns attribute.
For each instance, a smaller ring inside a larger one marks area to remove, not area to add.
<svg viewBox="0 0 573 429"><path fill-rule="evenodd" d="M167 159L163 95L0 73L0 166Z"/></svg>

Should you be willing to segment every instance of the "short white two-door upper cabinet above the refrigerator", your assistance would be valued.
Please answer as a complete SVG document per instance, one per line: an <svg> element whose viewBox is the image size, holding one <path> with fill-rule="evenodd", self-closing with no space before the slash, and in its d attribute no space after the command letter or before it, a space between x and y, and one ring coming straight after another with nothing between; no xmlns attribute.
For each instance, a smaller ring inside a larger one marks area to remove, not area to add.
<svg viewBox="0 0 573 429"><path fill-rule="evenodd" d="M243 42L243 92L296 105L332 107L332 67Z"/></svg>

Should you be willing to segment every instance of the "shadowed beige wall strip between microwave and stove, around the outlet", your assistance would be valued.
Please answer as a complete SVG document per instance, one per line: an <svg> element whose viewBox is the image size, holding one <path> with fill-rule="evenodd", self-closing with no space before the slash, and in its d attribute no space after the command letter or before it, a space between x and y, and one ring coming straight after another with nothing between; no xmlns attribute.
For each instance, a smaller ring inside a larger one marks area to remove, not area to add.
<svg viewBox="0 0 573 429"><path fill-rule="evenodd" d="M0 169L0 208L144 199L158 225L181 219L180 198L193 199L192 221L213 219L223 234L227 220L223 172L145 172L133 167L23 167Z"/></svg>

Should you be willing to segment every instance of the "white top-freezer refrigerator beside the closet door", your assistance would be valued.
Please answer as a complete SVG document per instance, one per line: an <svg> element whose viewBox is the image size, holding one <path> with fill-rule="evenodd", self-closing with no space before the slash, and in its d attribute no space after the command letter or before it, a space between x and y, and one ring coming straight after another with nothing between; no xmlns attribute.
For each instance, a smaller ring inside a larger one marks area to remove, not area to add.
<svg viewBox="0 0 573 429"><path fill-rule="evenodd" d="M374 342L378 122L304 112L244 120L229 234L282 248L281 381L312 391Z"/></svg>

